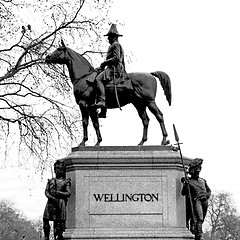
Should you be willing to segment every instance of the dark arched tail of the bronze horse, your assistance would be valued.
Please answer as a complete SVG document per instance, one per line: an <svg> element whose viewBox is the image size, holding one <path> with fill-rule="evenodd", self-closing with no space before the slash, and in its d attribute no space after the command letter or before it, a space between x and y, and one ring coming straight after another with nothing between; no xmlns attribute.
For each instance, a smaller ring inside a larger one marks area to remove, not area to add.
<svg viewBox="0 0 240 240"><path fill-rule="evenodd" d="M160 80L164 94L168 101L168 104L169 106L171 106L172 90L171 90L171 81L169 76L165 72L161 72L161 71L151 72L151 74Z"/></svg>

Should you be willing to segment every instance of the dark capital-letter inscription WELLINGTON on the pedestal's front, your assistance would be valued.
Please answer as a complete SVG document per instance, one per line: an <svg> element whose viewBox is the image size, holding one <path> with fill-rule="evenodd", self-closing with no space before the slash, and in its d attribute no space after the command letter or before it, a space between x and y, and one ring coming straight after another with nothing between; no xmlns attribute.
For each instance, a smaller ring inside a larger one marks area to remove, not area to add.
<svg viewBox="0 0 240 240"><path fill-rule="evenodd" d="M97 202L154 202L159 201L158 193L94 193Z"/></svg>

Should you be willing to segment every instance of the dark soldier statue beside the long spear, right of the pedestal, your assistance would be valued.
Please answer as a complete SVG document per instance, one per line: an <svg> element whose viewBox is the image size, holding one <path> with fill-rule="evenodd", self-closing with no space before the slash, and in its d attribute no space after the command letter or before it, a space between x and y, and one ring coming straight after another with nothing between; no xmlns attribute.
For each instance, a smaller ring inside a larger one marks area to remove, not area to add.
<svg viewBox="0 0 240 240"><path fill-rule="evenodd" d="M188 172L191 177L188 179L182 178L182 195L186 196L187 203L187 221L190 220L190 230L195 234L195 240L202 240L202 224L208 209L208 199L211 196L207 181L199 177L202 162L202 159L195 158L189 165ZM192 209L190 204L192 204Z"/></svg>

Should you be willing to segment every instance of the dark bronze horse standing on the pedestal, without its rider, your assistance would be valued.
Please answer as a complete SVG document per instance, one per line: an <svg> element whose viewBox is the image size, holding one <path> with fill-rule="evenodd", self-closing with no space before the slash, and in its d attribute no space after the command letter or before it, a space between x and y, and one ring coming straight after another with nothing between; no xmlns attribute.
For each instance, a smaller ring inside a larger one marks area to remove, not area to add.
<svg viewBox="0 0 240 240"><path fill-rule="evenodd" d="M102 137L99 129L99 116L97 109L93 107L97 92L94 84L88 82L88 77L95 72L95 69L86 58L66 47L63 42L62 46L46 57L46 63L67 65L73 84L74 96L82 113L83 140L79 146L85 146L85 143L88 140L89 116L91 117L97 135L96 146L100 145ZM169 144L163 114L155 103L157 91L157 81L155 77L157 77L161 82L166 99L169 105L171 105L171 82L168 75L164 72L156 71L153 73L133 72L129 73L128 76L132 88L117 88L117 99L119 101L116 101L116 91L113 90L114 88L106 88L107 108L112 109L125 106L129 103L133 104L137 109L143 124L143 136L141 142L138 144L143 145L143 143L147 141L148 134L149 117L146 112L146 107L148 107L160 124L163 135L161 145Z"/></svg>

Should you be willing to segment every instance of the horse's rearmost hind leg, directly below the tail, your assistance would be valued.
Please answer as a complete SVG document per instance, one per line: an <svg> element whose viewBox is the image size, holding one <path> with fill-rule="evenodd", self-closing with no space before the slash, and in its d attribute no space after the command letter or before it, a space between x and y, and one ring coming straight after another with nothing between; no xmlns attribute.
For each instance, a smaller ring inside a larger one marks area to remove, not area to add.
<svg viewBox="0 0 240 240"><path fill-rule="evenodd" d="M170 141L167 140L168 134L167 134L167 130L165 128L162 112L159 110L159 108L157 107L155 102L150 102L147 106L148 106L148 109L154 114L154 116L156 117L157 121L160 124L161 130L162 130L162 135L163 135L161 145L168 145L170 143Z"/></svg>

